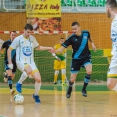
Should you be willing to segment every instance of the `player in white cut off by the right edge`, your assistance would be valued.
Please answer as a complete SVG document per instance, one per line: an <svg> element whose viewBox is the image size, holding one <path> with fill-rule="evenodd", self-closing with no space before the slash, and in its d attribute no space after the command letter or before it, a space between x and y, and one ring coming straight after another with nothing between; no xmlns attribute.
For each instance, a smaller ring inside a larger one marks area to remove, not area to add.
<svg viewBox="0 0 117 117"><path fill-rule="evenodd" d="M107 74L107 87L117 91L117 2L116 0L106 1L106 14L112 19L111 40L112 40L112 58Z"/></svg>

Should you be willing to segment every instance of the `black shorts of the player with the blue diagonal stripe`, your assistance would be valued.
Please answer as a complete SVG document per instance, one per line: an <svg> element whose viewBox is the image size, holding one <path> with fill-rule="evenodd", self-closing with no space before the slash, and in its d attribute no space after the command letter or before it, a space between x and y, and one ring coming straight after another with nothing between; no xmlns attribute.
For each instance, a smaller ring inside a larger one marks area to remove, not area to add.
<svg viewBox="0 0 117 117"><path fill-rule="evenodd" d="M81 67L85 67L87 64L92 64L91 56L85 57L83 59L72 59L71 73L77 73L80 71Z"/></svg>

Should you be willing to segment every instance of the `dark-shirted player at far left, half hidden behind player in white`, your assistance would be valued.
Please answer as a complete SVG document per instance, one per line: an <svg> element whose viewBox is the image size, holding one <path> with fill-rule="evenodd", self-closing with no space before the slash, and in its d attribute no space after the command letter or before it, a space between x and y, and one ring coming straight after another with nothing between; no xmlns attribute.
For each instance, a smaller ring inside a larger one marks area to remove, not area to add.
<svg viewBox="0 0 117 117"><path fill-rule="evenodd" d="M11 92L12 95L15 92L15 90L12 89L12 80L15 77L15 72L16 72L16 69L17 69L16 62L15 62L16 61L16 52L15 52L15 50L12 51L11 57L12 57L12 62L13 62L13 69L11 70L8 66L7 50L9 48L9 46L11 45L12 41L15 39L15 37L16 37L16 31L12 31L10 33L10 39L5 41L2 44L2 47L1 47L1 50L5 49L4 65L5 65L6 72L4 73L4 81L8 82L10 92Z"/></svg>

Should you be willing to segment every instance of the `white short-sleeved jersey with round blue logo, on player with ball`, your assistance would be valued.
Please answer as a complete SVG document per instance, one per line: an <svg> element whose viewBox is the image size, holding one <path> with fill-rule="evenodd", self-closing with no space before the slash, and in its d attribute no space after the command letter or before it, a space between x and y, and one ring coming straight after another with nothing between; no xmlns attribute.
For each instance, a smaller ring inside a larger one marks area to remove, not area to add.
<svg viewBox="0 0 117 117"><path fill-rule="evenodd" d="M35 37L30 36L28 39L20 35L15 38L11 48L16 49L16 62L31 64L34 62L34 48L39 46Z"/></svg>

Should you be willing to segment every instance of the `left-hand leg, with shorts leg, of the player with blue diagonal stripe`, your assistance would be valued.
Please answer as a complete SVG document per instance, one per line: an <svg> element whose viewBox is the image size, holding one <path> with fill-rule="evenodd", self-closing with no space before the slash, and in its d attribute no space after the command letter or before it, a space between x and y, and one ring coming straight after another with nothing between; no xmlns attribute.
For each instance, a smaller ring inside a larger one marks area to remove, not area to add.
<svg viewBox="0 0 117 117"><path fill-rule="evenodd" d="M68 90L66 93L67 98L71 97L72 87L73 87L73 84L76 80L76 77L77 77L79 70L80 70L80 61L73 59L72 64L71 64L71 78L69 80L69 86L68 86Z"/></svg>

